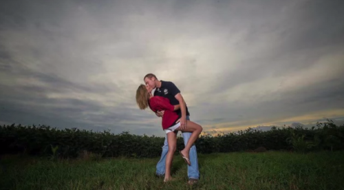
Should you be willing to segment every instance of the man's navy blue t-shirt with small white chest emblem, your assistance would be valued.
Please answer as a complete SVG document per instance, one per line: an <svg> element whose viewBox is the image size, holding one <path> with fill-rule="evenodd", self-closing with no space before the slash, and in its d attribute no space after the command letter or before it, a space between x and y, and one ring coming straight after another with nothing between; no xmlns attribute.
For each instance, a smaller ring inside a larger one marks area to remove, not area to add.
<svg viewBox="0 0 344 190"><path fill-rule="evenodd" d="M171 105L178 105L179 101L175 98L175 95L180 93L178 87L175 86L174 83L170 81L161 81L161 87L157 87L154 92L154 96L162 96L165 98L169 98ZM185 103L186 104L186 103ZM186 107L186 116L190 116L189 109ZM182 116L182 109L177 109L175 112Z"/></svg>

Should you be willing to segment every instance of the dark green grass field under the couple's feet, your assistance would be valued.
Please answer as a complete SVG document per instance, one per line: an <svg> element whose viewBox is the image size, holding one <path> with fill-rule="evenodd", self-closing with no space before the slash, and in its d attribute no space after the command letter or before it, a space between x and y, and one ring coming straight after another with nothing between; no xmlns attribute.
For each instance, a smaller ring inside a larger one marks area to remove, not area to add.
<svg viewBox="0 0 344 190"><path fill-rule="evenodd" d="M186 183L175 156L173 182L154 176L154 159L60 160L2 156L0 189L343 189L344 151L199 155L201 179Z"/></svg>

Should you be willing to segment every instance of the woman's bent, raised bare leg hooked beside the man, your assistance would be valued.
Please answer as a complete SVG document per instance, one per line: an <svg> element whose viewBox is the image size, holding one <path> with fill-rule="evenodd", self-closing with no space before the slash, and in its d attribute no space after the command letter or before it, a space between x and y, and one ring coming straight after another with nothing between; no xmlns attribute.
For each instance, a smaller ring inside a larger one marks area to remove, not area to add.
<svg viewBox="0 0 344 190"><path fill-rule="evenodd" d="M192 132L188 143L185 145L185 148L181 151L181 153L184 155L184 157L189 159L189 151L193 143L197 140L198 136L200 136L203 128L201 125L198 125L197 123L193 123L191 120L186 120L187 125L186 129L183 130L183 132ZM179 130L180 127L177 128Z"/></svg>

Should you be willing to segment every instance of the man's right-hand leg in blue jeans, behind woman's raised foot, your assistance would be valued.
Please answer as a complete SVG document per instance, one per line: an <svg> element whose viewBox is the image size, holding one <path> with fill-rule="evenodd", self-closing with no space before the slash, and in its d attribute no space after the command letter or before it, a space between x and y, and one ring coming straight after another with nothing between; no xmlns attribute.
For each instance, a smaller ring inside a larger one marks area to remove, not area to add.
<svg viewBox="0 0 344 190"><path fill-rule="evenodd" d="M190 120L189 116L186 116L186 119ZM190 133L190 132L182 133L183 138L184 138L184 145L186 145L186 143L188 143L191 134L192 133ZM193 145L191 147L189 157L190 157L190 162L191 162L191 166L188 165L189 180L190 179L198 180L198 179L200 179L200 171L198 171L197 150L196 150L195 145Z"/></svg>

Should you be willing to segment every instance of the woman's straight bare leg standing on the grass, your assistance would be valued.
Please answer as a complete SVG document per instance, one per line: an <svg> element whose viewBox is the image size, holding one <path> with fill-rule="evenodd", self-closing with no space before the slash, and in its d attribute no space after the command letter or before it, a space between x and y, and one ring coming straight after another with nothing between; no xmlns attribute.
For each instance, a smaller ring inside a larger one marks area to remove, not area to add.
<svg viewBox="0 0 344 190"><path fill-rule="evenodd" d="M178 132L178 131L175 131ZM177 134L175 132L169 132L167 134L167 142L169 144L169 151L166 156L166 169L165 169L165 178L164 182L171 180L171 167L173 161L173 154L177 147Z"/></svg>

